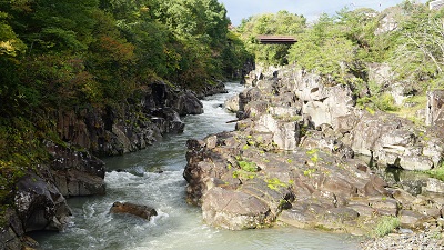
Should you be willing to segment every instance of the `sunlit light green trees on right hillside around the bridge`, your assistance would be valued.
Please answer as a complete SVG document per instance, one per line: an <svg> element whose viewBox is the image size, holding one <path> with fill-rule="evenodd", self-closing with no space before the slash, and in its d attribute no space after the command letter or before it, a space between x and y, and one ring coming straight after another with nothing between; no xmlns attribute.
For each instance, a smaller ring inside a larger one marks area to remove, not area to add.
<svg viewBox="0 0 444 250"><path fill-rule="evenodd" d="M327 84L350 84L361 108L421 122L415 112L425 107L426 91L444 88L443 23L443 9L404 1L382 12L345 8L313 23L287 11L259 14L244 19L238 32L256 63L292 64L322 76ZM297 42L264 46L258 34L294 36ZM369 76L375 64L390 67L392 82L375 84ZM393 82L408 97L408 107L395 103L389 93Z"/></svg>

